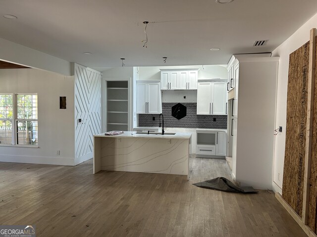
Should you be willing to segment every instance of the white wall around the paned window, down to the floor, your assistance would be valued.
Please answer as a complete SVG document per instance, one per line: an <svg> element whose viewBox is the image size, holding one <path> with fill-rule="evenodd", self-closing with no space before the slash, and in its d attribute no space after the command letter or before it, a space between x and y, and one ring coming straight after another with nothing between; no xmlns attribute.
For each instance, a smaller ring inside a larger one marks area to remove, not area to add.
<svg viewBox="0 0 317 237"><path fill-rule="evenodd" d="M38 69L0 69L0 93L13 92L38 93L39 148L0 146L0 161L74 165L74 78ZM67 109L59 109L59 96L66 96Z"/></svg>

